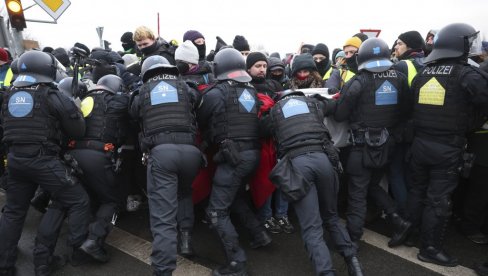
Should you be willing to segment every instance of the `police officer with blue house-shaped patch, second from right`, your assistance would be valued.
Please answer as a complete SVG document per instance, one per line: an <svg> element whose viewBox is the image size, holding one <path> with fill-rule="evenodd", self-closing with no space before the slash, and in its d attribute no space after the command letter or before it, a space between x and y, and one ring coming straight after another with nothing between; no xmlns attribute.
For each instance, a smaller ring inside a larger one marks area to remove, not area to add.
<svg viewBox="0 0 488 276"><path fill-rule="evenodd" d="M371 197L392 224L389 246L403 242L411 224L379 183L390 162L408 107L405 75L391 69L388 45L381 39L363 42L357 55L359 73L344 86L337 102L335 119L349 120L352 148L346 166L348 183L347 229L354 242L363 234L366 199ZM401 133L401 132L400 132Z"/></svg>

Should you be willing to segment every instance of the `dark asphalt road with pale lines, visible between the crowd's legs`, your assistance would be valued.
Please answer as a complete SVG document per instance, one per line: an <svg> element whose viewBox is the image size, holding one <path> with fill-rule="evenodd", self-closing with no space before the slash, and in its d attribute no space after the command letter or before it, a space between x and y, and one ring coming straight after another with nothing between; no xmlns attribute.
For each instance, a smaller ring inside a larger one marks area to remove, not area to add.
<svg viewBox="0 0 488 276"><path fill-rule="evenodd" d="M5 195L0 192L0 206L5 202ZM111 260L107 264L90 263L80 267L69 264L62 267L55 275L151 275L150 249L151 233L147 209L120 216L117 227L107 239L107 249ZM291 210L290 219L296 224ZM192 259L179 258L175 276L210 275L211 269L224 261L223 250L213 233L203 221L202 206L196 206L194 247L196 256ZM29 211L22 238L19 243L17 270L19 276L33 275L32 249L36 225L41 214L34 209ZM253 250L249 247L249 235L236 221L241 244L248 256L248 272L252 276L295 276L314 275L310 260L305 252L300 234L274 234L273 242L265 247ZM488 246L476 245L461 236L451 225L446 248L460 259L460 266L444 268L420 262L416 258L417 248L401 246L391 249L386 246L389 229L383 219L378 218L368 224L363 240L360 242L359 259L365 275L395 276L430 276L430 275L475 275L472 268L475 263L488 260ZM57 255L68 254L66 247L66 228L63 228L56 248ZM326 237L327 240L327 237ZM333 249L331 248L333 251ZM341 256L333 252L333 263L338 275L347 275L347 269Z"/></svg>

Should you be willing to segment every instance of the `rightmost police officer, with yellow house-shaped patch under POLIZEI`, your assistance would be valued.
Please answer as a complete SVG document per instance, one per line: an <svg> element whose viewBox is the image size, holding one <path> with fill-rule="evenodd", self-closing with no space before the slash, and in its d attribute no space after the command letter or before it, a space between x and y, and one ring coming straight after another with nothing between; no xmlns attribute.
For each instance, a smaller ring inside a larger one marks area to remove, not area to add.
<svg viewBox="0 0 488 276"><path fill-rule="evenodd" d="M458 184L467 132L480 127L476 110L488 110L488 78L467 59L478 32L470 25L454 23L436 35L427 66L412 83L414 139L411 147L412 188L409 219L421 224L418 259L456 266L456 258L444 249L451 216L451 195Z"/></svg>

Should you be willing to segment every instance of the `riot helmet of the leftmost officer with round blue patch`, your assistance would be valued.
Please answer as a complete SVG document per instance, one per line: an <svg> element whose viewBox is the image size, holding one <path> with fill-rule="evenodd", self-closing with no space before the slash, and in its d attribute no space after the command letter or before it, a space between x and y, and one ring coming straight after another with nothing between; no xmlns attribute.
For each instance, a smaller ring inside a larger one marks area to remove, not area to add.
<svg viewBox="0 0 488 276"><path fill-rule="evenodd" d="M19 57L17 64L19 76L15 79L14 86L23 87L55 81L56 62L53 55L45 52L25 52Z"/></svg>

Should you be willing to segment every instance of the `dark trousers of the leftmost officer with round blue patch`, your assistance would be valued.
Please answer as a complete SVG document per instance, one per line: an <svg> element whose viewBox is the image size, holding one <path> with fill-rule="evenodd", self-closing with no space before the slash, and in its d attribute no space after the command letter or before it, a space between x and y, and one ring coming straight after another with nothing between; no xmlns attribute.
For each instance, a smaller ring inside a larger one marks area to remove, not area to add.
<svg viewBox="0 0 488 276"><path fill-rule="evenodd" d="M53 201L67 211L68 243L79 246L85 240L90 217L88 195L80 184L69 181L65 165L57 156L36 155L19 157L9 153L7 203L0 218L0 268L15 265L17 243L22 233L30 201L38 186L51 194ZM49 214L44 215L38 229L34 262L47 262L57 241L50 228Z"/></svg>

